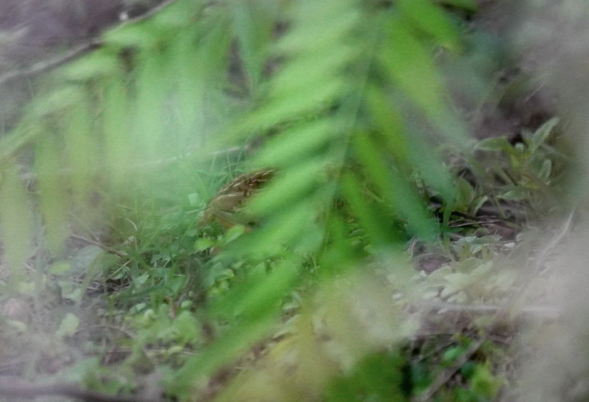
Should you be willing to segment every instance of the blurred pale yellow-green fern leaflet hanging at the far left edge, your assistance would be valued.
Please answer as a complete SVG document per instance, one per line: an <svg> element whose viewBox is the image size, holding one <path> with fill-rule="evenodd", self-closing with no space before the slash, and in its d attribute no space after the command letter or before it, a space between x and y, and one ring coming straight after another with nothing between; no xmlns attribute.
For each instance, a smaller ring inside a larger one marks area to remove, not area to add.
<svg viewBox="0 0 589 402"><path fill-rule="evenodd" d="M30 208L18 168L9 165L2 171L0 181L0 225L12 283L24 278L24 264L31 255L33 217Z"/></svg>

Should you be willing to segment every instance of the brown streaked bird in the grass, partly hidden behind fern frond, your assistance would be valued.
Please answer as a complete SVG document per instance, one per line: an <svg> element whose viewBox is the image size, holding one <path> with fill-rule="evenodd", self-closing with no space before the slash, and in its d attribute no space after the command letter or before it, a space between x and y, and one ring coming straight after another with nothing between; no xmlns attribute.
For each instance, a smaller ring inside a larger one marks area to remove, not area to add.
<svg viewBox="0 0 589 402"><path fill-rule="evenodd" d="M201 228L216 221L226 229L236 225L249 226L247 217L240 213L241 206L266 182L274 177L274 170L264 169L242 174L224 185L209 201L202 217L197 222Z"/></svg>

